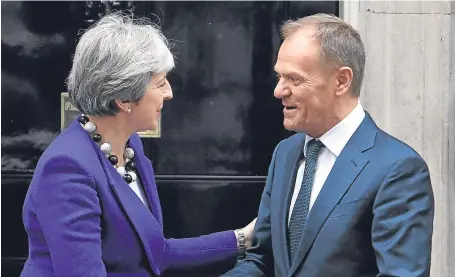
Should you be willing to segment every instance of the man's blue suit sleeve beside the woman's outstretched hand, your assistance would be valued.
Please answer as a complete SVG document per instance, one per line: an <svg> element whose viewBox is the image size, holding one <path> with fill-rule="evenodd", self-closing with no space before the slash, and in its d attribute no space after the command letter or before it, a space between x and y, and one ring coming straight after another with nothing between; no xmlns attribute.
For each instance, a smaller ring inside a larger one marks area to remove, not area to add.
<svg viewBox="0 0 455 277"><path fill-rule="evenodd" d="M253 245L247 250L246 258L222 275L222 277L263 277L273 276L272 233L270 223L270 206L275 171L275 160L278 146L273 152L267 181L259 205L258 218L254 228Z"/></svg>

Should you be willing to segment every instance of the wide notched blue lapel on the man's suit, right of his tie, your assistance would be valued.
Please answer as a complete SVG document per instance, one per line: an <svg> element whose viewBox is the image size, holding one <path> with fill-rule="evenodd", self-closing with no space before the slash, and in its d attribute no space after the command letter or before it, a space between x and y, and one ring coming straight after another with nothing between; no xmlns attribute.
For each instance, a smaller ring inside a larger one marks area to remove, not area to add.
<svg viewBox="0 0 455 277"><path fill-rule="evenodd" d="M330 213L368 164L369 160L362 155L362 152L374 146L376 134L377 127L370 116L366 114L362 124L338 156L316 202L311 208L299 244L299 252L292 262L289 276L295 273Z"/></svg>

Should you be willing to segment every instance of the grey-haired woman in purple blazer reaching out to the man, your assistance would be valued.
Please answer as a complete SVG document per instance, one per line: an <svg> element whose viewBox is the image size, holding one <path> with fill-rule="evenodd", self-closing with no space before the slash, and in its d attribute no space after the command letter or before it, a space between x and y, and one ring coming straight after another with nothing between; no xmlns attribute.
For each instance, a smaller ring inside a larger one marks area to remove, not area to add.
<svg viewBox="0 0 455 277"><path fill-rule="evenodd" d="M166 38L147 21L113 14L80 39L68 77L85 115L46 149L30 184L23 220L29 258L23 277L148 277L168 268L235 257L243 230L165 239L152 164L138 131L157 127L172 99Z"/></svg>

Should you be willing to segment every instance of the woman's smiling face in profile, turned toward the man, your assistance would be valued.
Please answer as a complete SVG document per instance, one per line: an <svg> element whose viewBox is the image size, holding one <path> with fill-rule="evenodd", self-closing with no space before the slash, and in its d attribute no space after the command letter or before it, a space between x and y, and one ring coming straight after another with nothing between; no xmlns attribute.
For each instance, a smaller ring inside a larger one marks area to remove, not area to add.
<svg viewBox="0 0 455 277"><path fill-rule="evenodd" d="M172 89L166 73L153 74L144 96L131 106L131 116L133 124L138 126L137 131L156 129L163 102L171 99Z"/></svg>

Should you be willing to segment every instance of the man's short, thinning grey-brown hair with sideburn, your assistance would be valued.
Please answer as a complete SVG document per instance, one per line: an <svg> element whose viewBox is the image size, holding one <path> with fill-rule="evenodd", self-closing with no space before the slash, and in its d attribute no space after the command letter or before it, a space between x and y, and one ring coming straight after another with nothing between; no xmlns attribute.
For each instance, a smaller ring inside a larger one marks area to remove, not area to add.
<svg viewBox="0 0 455 277"><path fill-rule="evenodd" d="M365 47L360 34L342 19L329 14L315 14L286 21L281 27L284 39L306 26L315 28L322 60L332 66L352 69L351 92L360 95L365 69Z"/></svg>

